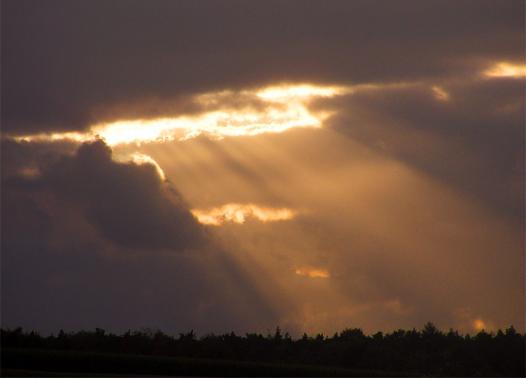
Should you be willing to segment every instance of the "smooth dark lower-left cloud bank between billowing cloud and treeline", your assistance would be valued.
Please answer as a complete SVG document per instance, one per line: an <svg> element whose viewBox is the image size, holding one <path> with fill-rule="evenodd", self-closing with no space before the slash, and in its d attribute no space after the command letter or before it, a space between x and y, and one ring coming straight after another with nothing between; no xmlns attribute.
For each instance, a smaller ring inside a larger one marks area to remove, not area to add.
<svg viewBox="0 0 526 378"><path fill-rule="evenodd" d="M6 198L2 210L9 217L2 223L2 327L226 332L275 323L246 277L217 253L130 254L28 197ZM68 234L57 240L57 231ZM236 276L215 273L225 271Z"/></svg>

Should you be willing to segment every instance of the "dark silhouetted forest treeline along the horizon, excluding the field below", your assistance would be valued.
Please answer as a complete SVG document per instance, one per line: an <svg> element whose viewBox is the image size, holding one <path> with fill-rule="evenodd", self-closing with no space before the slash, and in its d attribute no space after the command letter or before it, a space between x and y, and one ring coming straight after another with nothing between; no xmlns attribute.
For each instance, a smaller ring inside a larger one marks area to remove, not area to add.
<svg viewBox="0 0 526 378"><path fill-rule="evenodd" d="M318 334L293 339L280 328L267 335L234 333L177 337L161 331L103 329L40 336L21 328L1 330L2 349L67 350L126 355L177 356L214 360L369 369L414 375L525 376L526 335L513 327L462 335L427 323L422 330L365 335L358 328L332 337ZM3 359L3 364L9 360Z"/></svg>

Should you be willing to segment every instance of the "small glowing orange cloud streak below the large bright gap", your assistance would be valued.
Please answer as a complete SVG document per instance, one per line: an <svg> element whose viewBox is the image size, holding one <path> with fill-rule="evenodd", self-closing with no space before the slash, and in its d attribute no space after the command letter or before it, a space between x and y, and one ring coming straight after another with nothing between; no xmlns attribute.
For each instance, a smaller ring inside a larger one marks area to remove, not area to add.
<svg viewBox="0 0 526 378"><path fill-rule="evenodd" d="M251 203L229 203L207 210L193 209L192 214L194 214L199 223L209 226L221 226L227 222L243 224L249 218L264 223L277 222L290 220L296 216L296 212L291 209L263 207Z"/></svg>

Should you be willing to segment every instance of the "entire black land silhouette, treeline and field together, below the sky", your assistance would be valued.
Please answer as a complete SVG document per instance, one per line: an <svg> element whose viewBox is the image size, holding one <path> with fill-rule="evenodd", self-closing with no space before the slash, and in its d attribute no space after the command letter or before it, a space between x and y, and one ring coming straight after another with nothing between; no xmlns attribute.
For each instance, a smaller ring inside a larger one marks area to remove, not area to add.
<svg viewBox="0 0 526 378"><path fill-rule="evenodd" d="M0 336L3 376L525 376L526 335L513 327L461 335L428 323L420 331L346 329L298 339L279 328L266 336L98 328L50 336L2 329Z"/></svg>

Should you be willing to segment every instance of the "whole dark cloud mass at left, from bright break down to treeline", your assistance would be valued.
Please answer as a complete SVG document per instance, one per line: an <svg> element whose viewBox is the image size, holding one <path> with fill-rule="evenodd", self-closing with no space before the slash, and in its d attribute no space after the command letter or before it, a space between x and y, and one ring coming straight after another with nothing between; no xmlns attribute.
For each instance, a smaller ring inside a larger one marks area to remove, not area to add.
<svg viewBox="0 0 526 378"><path fill-rule="evenodd" d="M12 167L2 175L2 327L226 332L276 324L250 278L175 189L162 190L168 184L153 166L114 162L95 142L55 152L28 176L23 169L44 151L2 144L2 163Z"/></svg>

